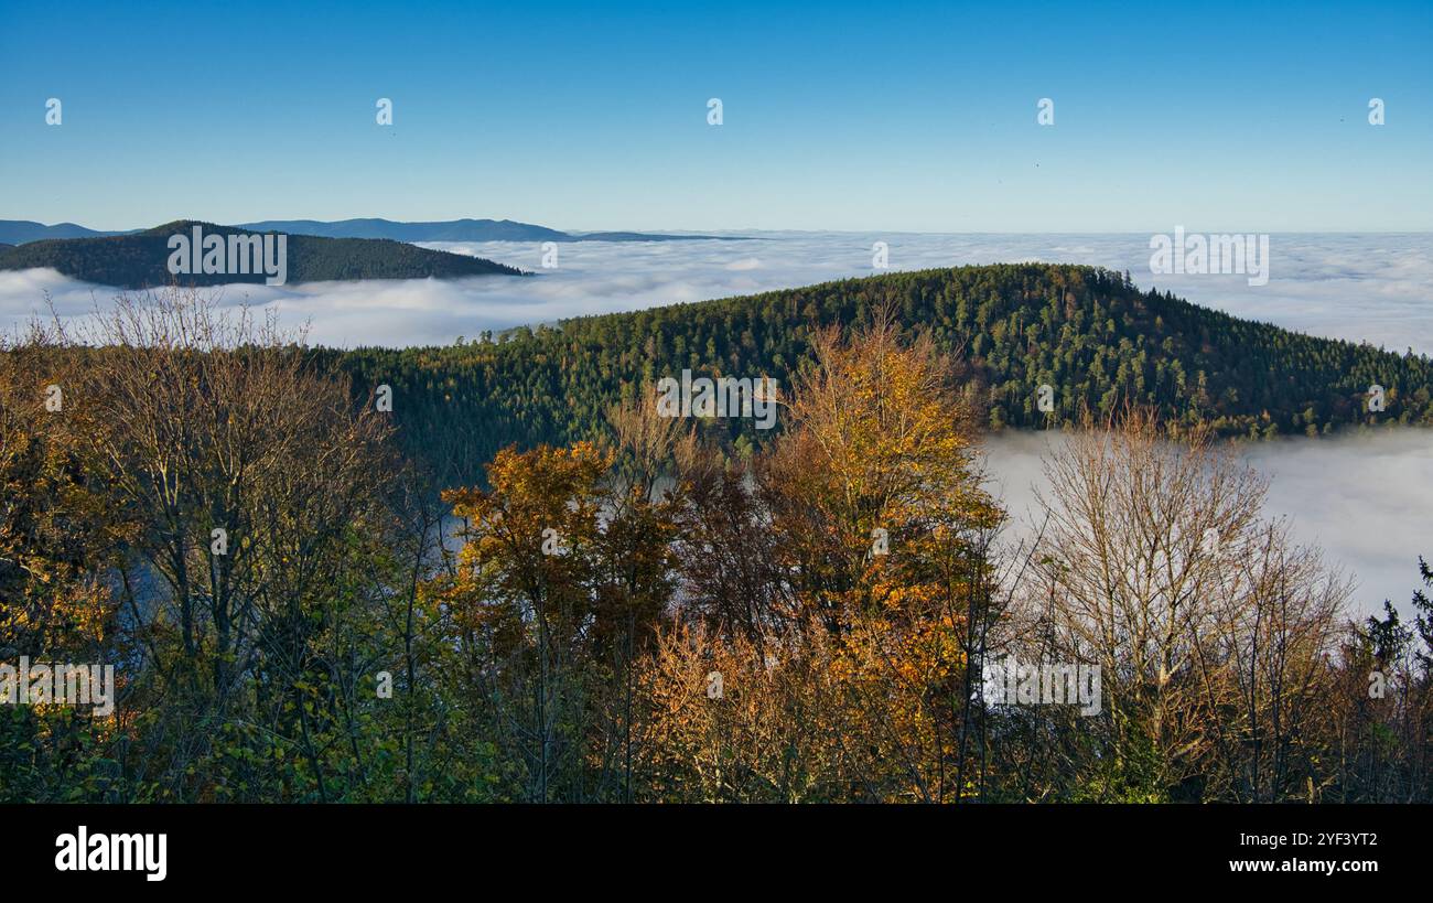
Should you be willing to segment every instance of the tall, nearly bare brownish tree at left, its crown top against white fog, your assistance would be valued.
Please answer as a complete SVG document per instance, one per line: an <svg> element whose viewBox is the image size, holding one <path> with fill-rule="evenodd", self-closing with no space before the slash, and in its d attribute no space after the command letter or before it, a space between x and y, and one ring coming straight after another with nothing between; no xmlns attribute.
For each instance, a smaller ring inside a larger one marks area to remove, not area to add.
<svg viewBox="0 0 1433 903"><path fill-rule="evenodd" d="M171 701L145 714L149 741L172 744L150 760L166 793L258 744L269 778L328 798L328 754L350 748L331 737L353 679L338 692L320 649L373 602L357 553L378 533L388 427L301 341L182 290L120 298L69 337L136 678Z"/></svg>

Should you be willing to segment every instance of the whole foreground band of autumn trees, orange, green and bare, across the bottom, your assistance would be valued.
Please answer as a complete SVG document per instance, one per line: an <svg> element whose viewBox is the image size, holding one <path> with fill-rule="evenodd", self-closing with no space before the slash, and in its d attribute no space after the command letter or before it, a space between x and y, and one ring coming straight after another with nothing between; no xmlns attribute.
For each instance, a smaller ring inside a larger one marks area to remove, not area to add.
<svg viewBox="0 0 1433 903"><path fill-rule="evenodd" d="M643 390L440 493L196 294L0 344L0 801L1433 800L1433 572L1351 619L1208 424L1082 417L1006 536L883 307L749 454Z"/></svg>

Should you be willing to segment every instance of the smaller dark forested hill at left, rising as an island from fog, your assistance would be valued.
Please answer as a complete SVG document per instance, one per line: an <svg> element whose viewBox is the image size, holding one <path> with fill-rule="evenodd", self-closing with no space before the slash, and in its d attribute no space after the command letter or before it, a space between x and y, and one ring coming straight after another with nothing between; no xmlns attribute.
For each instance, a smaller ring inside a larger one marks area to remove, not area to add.
<svg viewBox="0 0 1433 903"><path fill-rule="evenodd" d="M235 226L179 221L129 235L33 241L14 248L0 248L0 269L50 267L76 280L118 288L169 285L175 281L182 285L264 281L264 274L171 275L169 238L192 235L193 226L201 226L203 235L252 234ZM388 239L289 235L287 247L288 284L520 275L519 269L489 259L431 251Z"/></svg>

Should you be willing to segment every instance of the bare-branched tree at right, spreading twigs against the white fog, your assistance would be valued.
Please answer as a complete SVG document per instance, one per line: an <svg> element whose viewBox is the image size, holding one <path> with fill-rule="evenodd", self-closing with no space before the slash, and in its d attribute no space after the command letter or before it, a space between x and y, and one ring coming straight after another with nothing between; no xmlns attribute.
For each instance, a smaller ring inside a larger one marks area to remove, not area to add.
<svg viewBox="0 0 1433 903"><path fill-rule="evenodd" d="M1204 429L1086 420L1045 476L1032 635L1103 689L1066 771L1105 800L1283 793L1347 586L1261 519L1262 479Z"/></svg>

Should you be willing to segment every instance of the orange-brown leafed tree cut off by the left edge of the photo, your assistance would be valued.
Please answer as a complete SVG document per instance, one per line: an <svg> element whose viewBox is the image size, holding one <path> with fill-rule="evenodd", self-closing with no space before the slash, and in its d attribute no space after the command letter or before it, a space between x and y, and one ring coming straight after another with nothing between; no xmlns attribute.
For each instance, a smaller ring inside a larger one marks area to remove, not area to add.
<svg viewBox="0 0 1433 903"><path fill-rule="evenodd" d="M102 579L115 513L79 454L79 367L53 328L0 338L0 662L10 666L96 662L116 648L118 601ZM105 794L113 735L113 718L0 705L0 800Z"/></svg>

